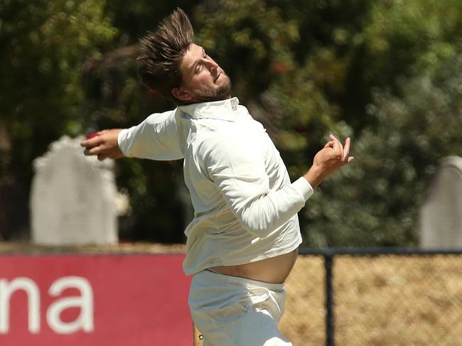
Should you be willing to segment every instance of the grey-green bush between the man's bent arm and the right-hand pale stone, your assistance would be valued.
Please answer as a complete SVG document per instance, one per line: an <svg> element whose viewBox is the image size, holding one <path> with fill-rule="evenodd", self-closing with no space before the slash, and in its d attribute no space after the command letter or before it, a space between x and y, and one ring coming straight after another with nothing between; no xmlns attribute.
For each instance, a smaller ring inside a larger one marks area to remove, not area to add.
<svg viewBox="0 0 462 346"><path fill-rule="evenodd" d="M323 183L305 215L313 246L418 244L419 208L444 156L462 155L462 56L377 92L377 121L355 143L356 161Z"/></svg>

